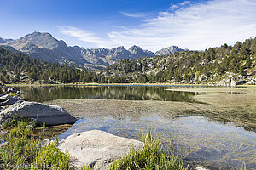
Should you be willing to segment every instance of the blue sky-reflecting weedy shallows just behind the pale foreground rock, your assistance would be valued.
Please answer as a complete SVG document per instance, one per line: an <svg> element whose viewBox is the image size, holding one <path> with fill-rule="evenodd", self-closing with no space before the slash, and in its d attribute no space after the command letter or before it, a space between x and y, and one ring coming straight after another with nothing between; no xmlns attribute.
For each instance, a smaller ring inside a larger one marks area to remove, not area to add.
<svg viewBox="0 0 256 170"><path fill-rule="evenodd" d="M203 116L178 117L168 119L163 116L85 116L76 122L59 138L65 139L73 133L99 129L119 136L139 139L142 132L151 129L160 135L163 143L174 139L184 160L192 164L202 164L211 169L222 167L256 167L256 135L242 127L211 122Z"/></svg>

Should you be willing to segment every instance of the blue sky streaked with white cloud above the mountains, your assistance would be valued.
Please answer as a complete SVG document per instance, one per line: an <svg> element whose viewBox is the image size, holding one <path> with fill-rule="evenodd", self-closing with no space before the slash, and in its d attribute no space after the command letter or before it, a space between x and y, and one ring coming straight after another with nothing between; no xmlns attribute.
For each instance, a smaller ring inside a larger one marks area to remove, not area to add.
<svg viewBox="0 0 256 170"><path fill-rule="evenodd" d="M204 49L256 35L255 0L1 0L0 37L49 32L67 45Z"/></svg>

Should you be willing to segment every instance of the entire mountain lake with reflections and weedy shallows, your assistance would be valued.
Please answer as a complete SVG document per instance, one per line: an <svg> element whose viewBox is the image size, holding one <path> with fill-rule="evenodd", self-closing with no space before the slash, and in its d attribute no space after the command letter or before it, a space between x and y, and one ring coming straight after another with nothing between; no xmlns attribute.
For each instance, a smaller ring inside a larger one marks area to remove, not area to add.
<svg viewBox="0 0 256 170"><path fill-rule="evenodd" d="M139 139L149 129L184 164L256 168L256 88L178 86L24 86L31 101L60 105L77 121L59 138L100 129Z"/></svg>

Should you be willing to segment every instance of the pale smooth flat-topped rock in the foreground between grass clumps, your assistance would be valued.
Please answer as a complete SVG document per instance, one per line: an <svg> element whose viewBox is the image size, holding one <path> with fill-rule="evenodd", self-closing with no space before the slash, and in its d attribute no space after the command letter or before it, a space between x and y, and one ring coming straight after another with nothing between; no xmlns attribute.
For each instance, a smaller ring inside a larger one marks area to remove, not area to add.
<svg viewBox="0 0 256 170"><path fill-rule="evenodd" d="M67 139L61 140L58 148L75 158L75 167L94 165L96 169L108 169L111 161L119 156L125 156L134 148L142 149L144 143L134 139L127 139L100 130L75 133Z"/></svg>

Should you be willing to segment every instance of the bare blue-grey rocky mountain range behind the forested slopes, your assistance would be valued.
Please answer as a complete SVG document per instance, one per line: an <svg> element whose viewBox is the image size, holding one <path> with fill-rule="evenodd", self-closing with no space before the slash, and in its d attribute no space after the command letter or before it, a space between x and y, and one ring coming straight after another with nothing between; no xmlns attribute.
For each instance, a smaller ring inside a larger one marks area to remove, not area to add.
<svg viewBox="0 0 256 170"><path fill-rule="evenodd" d="M121 59L138 59L152 57L155 54L140 47L132 46L129 50L118 48L85 49L79 46L69 47L64 41L59 41L49 33L33 32L20 39L0 38L3 48L14 48L32 58L67 65L80 65L84 67L103 69ZM172 48L179 50L180 48ZM171 53L172 49L169 50ZM166 53L167 54L167 53Z"/></svg>

